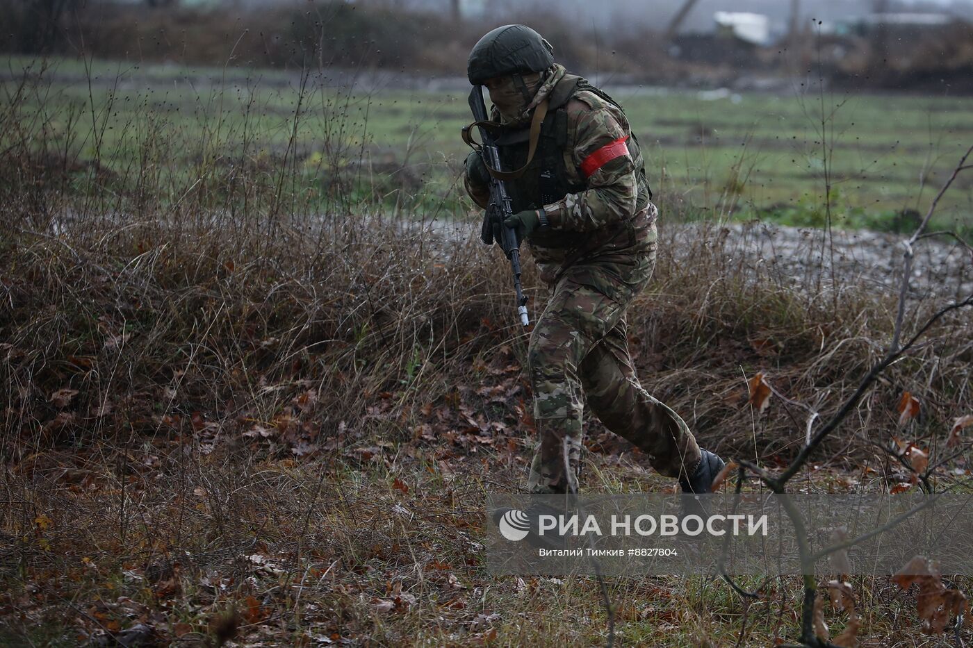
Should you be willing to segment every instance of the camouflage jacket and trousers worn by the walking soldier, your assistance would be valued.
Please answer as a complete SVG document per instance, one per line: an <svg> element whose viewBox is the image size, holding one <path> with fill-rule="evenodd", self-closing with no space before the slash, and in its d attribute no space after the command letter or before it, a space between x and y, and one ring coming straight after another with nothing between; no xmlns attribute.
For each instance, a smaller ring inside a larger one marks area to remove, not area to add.
<svg viewBox="0 0 973 648"><path fill-rule="evenodd" d="M529 119L530 110L544 96L555 95L560 84L577 80L560 66L552 68L523 119ZM650 396L635 377L626 310L655 266L658 211L649 199L644 175L639 177L640 154L633 160L626 152L593 169L598 163L595 154L625 141L631 127L619 107L585 88L578 86L580 90L572 91L563 104L562 169L576 191L552 202L521 197L543 208L550 223L527 239L550 291L528 350L541 439L530 468L533 492L564 492L577 486L582 393L601 422L645 451L661 474L685 478L701 457L683 419ZM502 121L495 111L493 119ZM524 186L527 194L537 193L529 179ZM477 178L468 174L466 189L486 206L488 189ZM566 474L565 457L570 466Z"/></svg>

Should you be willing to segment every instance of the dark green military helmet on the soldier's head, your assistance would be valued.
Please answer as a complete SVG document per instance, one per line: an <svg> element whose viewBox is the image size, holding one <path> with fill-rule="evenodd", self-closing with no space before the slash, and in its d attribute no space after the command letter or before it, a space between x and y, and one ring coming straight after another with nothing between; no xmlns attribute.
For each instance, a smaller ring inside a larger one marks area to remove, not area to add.
<svg viewBox="0 0 973 648"><path fill-rule="evenodd" d="M466 76L474 86L487 79L518 72L543 72L554 65L554 48L524 24L506 24L477 41L466 61Z"/></svg>

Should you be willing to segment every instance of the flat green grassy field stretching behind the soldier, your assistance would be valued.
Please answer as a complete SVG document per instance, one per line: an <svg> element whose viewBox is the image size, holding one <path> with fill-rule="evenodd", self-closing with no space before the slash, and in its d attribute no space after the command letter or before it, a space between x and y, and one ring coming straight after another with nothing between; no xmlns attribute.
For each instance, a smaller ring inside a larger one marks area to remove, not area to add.
<svg viewBox="0 0 973 648"><path fill-rule="evenodd" d="M249 162L271 179L275 168L295 171L320 196L333 195L341 176L342 191L358 198L470 206L456 192L466 153L458 133L470 119L463 91L382 89L388 84L367 72L357 88L378 90L348 93L298 71L46 63L20 109L44 123L46 146L97 158L129 184L133 169L155 165L175 196L214 167ZM24 69L37 75L43 64L5 60L5 95ZM779 94L613 92L664 206L677 199L720 217L823 224L829 180L836 222L894 227L894 213L925 211L973 141L973 99L965 97L821 95L800 85ZM968 226L971 205L973 179L960 176L940 223Z"/></svg>

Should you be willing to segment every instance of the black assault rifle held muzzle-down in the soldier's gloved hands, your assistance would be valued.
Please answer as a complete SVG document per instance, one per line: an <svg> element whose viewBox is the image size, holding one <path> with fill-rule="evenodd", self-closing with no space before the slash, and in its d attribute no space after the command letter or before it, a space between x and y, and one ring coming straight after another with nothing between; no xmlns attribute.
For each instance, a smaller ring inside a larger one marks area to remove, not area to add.
<svg viewBox="0 0 973 648"><path fill-rule="evenodd" d="M470 110L473 111L474 123L463 128L464 131L467 131L463 133L463 139L469 139L469 128L478 126L480 129L480 138L483 141L483 144L479 147L480 155L483 156L487 167L501 170L500 153L496 148L496 142L490 135L488 126L484 126L484 123L489 118L486 115L483 86L474 86L473 90L470 91ZM521 285L521 241L514 228L508 228L503 224L504 219L512 216L513 213L514 210L510 201L510 194L507 193L507 188L503 180L498 180L490 174L489 204L486 205L483 230L480 237L487 245L492 243L494 226L496 226L498 234L496 242L500 243L503 253L510 259L510 268L514 271L514 292L517 294L517 313L521 317L521 324L527 326L530 324L530 318L527 316L527 298L523 295L523 286Z"/></svg>

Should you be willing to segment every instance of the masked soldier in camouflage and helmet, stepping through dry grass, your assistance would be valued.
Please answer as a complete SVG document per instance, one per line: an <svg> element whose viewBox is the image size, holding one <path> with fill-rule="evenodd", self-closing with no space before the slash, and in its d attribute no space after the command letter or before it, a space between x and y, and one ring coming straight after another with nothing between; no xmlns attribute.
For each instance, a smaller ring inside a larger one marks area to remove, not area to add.
<svg viewBox="0 0 973 648"><path fill-rule="evenodd" d="M470 83L489 91L503 169L474 151L466 190L486 207L489 174L503 176L515 212L504 224L529 243L550 292L528 348L540 433L528 488L577 491L584 391L601 422L657 471L684 492L708 492L722 459L641 387L629 355L626 309L649 281L658 240L638 143L621 106L553 54L514 24L487 33L467 63ZM488 239L499 223L484 227Z"/></svg>

